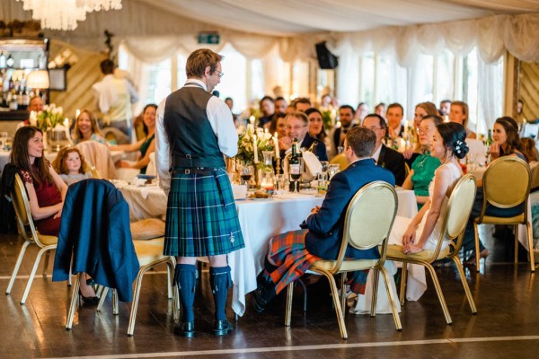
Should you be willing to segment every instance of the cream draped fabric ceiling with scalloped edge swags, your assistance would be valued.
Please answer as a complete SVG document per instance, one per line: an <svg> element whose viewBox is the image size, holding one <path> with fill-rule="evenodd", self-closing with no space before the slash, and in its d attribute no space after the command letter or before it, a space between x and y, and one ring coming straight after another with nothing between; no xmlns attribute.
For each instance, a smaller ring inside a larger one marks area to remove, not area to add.
<svg viewBox="0 0 539 359"><path fill-rule="evenodd" d="M264 57L278 45L285 61L314 58L314 43L328 40L336 55L345 48L393 54L410 66L422 52L449 48L456 56L477 46L496 61L507 49L539 61L539 0L124 0L123 9L89 13L76 31L52 31L53 39L102 49L102 31L141 60L154 63L200 45L194 34L218 31L246 57ZM22 3L4 0L0 19L28 19ZM348 50L347 50L348 51Z"/></svg>

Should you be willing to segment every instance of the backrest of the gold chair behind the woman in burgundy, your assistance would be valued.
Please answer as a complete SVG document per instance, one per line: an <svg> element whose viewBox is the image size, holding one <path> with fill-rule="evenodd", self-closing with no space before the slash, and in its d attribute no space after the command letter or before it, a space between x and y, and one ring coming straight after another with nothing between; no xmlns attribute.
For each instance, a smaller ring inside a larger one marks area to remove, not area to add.
<svg viewBox="0 0 539 359"><path fill-rule="evenodd" d="M11 197L17 217L17 225L22 237L26 241L35 242L40 247L43 247L33 223L33 218L31 217L30 202L26 194L26 188L19 174L15 174L15 183Z"/></svg>

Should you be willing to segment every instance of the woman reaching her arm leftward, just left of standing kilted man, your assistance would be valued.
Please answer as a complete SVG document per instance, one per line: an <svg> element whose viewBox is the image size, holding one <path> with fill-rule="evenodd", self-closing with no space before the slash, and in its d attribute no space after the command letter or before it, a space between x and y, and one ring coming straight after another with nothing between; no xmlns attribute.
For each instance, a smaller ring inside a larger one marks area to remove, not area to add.
<svg viewBox="0 0 539 359"><path fill-rule="evenodd" d="M138 156L137 162L128 162L128 161L120 161L119 167L120 168L132 168L132 169L140 169L140 173L146 173L146 166L150 162L150 153L155 152L155 113L157 111L157 105L151 103L149 105L146 105L143 113L143 120L144 120L144 132L146 134L146 137L138 141L136 144L119 144L119 145L111 145L111 150L119 150L119 151L127 151L127 152L133 152L133 151L139 151L140 155Z"/></svg>

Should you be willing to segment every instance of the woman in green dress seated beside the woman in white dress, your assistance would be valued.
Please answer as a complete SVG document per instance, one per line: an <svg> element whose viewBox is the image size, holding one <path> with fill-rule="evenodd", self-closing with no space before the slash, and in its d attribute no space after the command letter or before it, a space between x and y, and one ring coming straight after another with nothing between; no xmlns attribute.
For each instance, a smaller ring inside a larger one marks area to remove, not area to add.
<svg viewBox="0 0 539 359"><path fill-rule="evenodd" d="M419 128L421 154L411 164L411 171L402 183L402 188L413 189L418 210L429 200L429 184L434 178L434 171L440 165L440 160L430 155L430 144L437 125L442 122L443 119L437 115L428 115L421 119Z"/></svg>

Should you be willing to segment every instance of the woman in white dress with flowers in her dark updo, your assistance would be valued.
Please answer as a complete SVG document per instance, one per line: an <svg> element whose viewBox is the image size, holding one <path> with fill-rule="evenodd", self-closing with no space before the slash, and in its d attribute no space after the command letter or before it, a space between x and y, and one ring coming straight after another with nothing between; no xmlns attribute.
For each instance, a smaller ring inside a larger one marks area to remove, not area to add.
<svg viewBox="0 0 539 359"><path fill-rule="evenodd" d="M463 126L451 122L437 125L432 136L430 155L442 164L434 172L434 179L430 182L429 200L413 219L397 215L390 233L389 244L401 245L402 253L419 253L436 248L443 230L447 201L456 182L463 176L458 161L468 153L465 139L466 131ZM441 250L445 250L448 245L449 240L445 238ZM424 267L410 266L406 297L417 301L426 290Z"/></svg>

